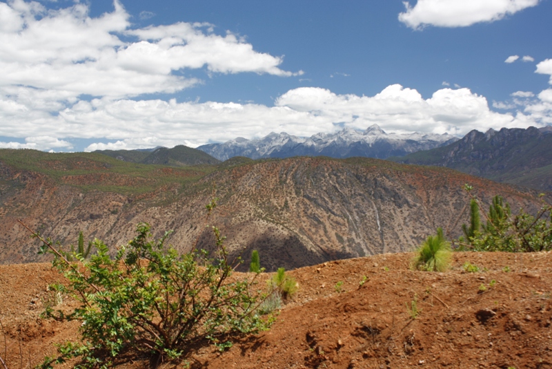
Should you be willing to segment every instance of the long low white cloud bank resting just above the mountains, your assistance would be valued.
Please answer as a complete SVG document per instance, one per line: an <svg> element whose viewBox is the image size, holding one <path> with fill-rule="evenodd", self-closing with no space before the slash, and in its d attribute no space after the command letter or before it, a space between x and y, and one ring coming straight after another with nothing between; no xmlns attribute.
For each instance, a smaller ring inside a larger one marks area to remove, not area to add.
<svg viewBox="0 0 552 369"><path fill-rule="evenodd" d="M390 132L464 135L472 129L542 126L550 120L550 102L552 95L541 93L535 102L524 106L525 111L496 113L485 97L468 88L442 88L424 99L415 89L398 84L371 97L295 88L280 96L275 106L104 98L79 101L57 115L1 100L0 120L7 122L3 135L27 139L22 144L3 142L0 146L70 149L69 138L98 139L88 151L197 146L240 136L259 138L270 131L310 136L334 132L339 126L366 129L374 123ZM48 137L43 137L43 132L48 132ZM111 142L101 143L101 138Z"/></svg>

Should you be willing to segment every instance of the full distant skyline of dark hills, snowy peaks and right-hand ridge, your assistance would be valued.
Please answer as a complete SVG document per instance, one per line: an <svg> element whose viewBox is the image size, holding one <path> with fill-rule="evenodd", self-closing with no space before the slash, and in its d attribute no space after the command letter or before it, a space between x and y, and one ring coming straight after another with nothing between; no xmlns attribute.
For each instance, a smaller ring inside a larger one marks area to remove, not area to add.
<svg viewBox="0 0 552 369"><path fill-rule="evenodd" d="M139 164L172 167L192 165L234 165L235 160L328 156L331 158L385 158L404 164L449 167L464 173L552 191L552 127L541 129L490 129L471 131L464 138L432 133L386 133L377 124L366 131L343 129L299 138L287 133L270 133L259 140L236 138L223 144L207 144L197 149L179 145L172 149L95 151ZM236 162L236 163L237 163Z"/></svg>

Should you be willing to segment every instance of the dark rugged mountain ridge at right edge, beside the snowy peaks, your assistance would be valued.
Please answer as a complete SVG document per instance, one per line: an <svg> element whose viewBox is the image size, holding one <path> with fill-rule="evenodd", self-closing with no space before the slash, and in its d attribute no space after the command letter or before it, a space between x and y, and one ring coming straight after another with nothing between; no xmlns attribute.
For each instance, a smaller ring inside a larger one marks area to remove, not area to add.
<svg viewBox="0 0 552 369"><path fill-rule="evenodd" d="M447 146L389 160L449 167L497 182L552 191L552 127L474 130Z"/></svg>

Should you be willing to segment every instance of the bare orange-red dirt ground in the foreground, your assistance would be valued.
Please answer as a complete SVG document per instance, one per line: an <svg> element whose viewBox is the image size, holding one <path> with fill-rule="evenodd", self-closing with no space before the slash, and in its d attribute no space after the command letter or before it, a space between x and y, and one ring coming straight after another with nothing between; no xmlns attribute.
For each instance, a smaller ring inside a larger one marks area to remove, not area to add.
<svg viewBox="0 0 552 369"><path fill-rule="evenodd" d="M459 252L444 273L409 270L412 256L296 269L299 293L271 330L226 352L194 348L190 366L552 368L552 253ZM479 271L466 272L466 263ZM78 325L39 318L41 305L57 298L47 289L57 280L47 264L0 265L8 368L32 367L55 352L52 343L76 337ZM2 357L3 346L0 334ZM137 357L119 366L144 367Z"/></svg>

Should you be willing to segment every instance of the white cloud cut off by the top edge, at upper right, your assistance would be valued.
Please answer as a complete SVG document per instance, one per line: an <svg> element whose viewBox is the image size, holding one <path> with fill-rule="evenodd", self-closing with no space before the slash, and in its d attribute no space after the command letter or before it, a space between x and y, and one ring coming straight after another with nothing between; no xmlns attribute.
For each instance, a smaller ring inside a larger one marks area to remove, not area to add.
<svg viewBox="0 0 552 369"><path fill-rule="evenodd" d="M540 0L417 0L415 6L404 1L405 12L399 20L413 29L424 26L466 27L480 22L497 21Z"/></svg>

